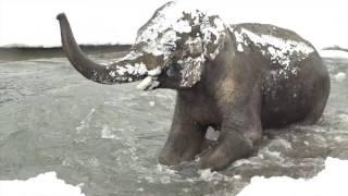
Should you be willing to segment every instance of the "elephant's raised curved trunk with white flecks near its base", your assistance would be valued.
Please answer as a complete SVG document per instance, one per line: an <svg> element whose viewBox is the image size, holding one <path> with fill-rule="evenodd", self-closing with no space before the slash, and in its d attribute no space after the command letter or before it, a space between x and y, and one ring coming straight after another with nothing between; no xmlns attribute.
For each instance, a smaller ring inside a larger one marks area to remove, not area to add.
<svg viewBox="0 0 348 196"><path fill-rule="evenodd" d="M91 61L79 48L64 13L57 16L61 27L62 47L73 66L86 78L101 84L128 83L145 78L145 64L137 63L132 52L110 65L102 65Z"/></svg>

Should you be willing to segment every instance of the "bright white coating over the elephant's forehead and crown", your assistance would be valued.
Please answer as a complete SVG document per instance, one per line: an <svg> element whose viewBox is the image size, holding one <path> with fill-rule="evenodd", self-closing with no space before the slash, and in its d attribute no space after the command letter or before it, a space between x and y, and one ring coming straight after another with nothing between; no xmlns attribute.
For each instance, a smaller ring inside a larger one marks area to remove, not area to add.
<svg viewBox="0 0 348 196"><path fill-rule="evenodd" d="M189 19L185 16L189 14ZM144 25L137 35L135 45L141 45L141 49L154 56L164 56L164 61L170 59L172 51L175 50L176 41L183 40L183 33L191 33L194 26L200 25L201 38L198 34L185 40L190 54L201 53L202 44L219 45L221 38L226 34L226 27L221 19L215 17L213 24L210 15L206 15L206 10L197 10L191 3L184 1L169 2L159 9L151 20ZM212 37L215 39L213 40ZM213 40L213 41L212 41ZM146 45L145 45L146 44ZM145 46L144 46L145 45ZM214 59L221 47L214 51L206 50L206 54Z"/></svg>

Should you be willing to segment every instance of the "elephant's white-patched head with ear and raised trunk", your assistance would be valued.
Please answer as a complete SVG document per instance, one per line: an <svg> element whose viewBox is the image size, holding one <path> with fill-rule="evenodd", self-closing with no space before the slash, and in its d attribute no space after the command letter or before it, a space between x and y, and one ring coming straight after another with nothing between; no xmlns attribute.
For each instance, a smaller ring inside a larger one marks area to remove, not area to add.
<svg viewBox="0 0 348 196"><path fill-rule="evenodd" d="M219 16L182 9L167 2L139 28L128 54L102 65L88 59L77 46L65 14L59 14L63 50L74 68L102 84L140 81L141 89L188 88L198 83L204 63L224 46L227 28Z"/></svg>

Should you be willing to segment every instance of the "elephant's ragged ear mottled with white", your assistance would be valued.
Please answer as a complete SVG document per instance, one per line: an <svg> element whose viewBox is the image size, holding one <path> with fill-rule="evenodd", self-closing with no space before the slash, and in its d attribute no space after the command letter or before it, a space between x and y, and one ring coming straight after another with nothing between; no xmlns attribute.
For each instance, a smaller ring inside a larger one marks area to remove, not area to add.
<svg viewBox="0 0 348 196"><path fill-rule="evenodd" d="M179 46L176 51L181 58L167 75L177 78L179 87L187 88L201 79L204 62L213 61L223 48L226 28L219 16L207 16L200 12L197 17L187 14L182 20L188 21L191 30L177 33L181 39L176 42Z"/></svg>

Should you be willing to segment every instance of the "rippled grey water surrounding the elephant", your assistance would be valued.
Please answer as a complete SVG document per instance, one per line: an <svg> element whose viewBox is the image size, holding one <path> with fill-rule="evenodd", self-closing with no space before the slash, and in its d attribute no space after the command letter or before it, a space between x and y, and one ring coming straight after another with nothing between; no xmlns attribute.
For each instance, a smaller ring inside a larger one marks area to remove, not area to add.
<svg viewBox="0 0 348 196"><path fill-rule="evenodd" d="M121 53L95 56L113 59ZM260 150L222 172L157 163L175 93L103 86L65 58L0 63L0 180L57 172L87 196L236 195L256 175L316 175L326 157L348 159L348 60L326 56L332 93L312 126L271 130Z"/></svg>

